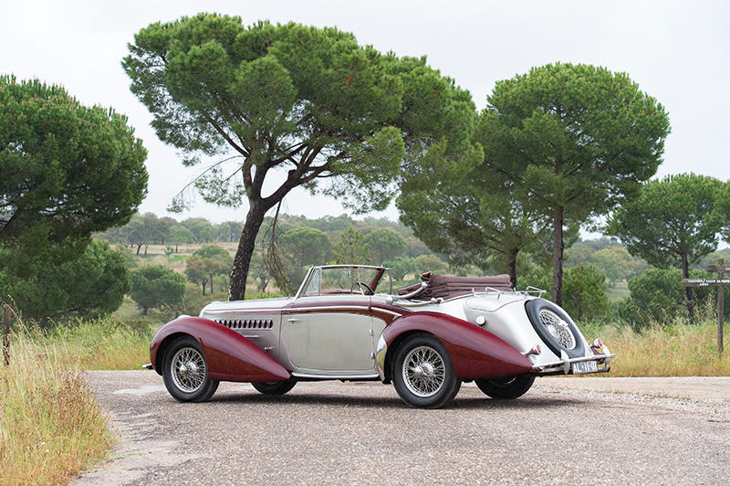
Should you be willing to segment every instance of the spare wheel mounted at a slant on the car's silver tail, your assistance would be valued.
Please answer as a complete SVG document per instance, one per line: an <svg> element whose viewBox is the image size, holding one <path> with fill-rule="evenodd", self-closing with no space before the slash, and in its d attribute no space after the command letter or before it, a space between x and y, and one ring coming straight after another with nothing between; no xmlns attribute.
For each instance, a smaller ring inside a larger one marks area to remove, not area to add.
<svg viewBox="0 0 730 486"><path fill-rule="evenodd" d="M580 332L568 314L551 301L533 299L525 303L527 317L535 332L553 353L565 351L571 358L585 355Z"/></svg>

